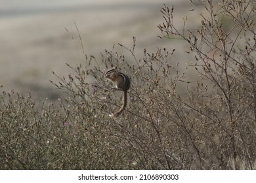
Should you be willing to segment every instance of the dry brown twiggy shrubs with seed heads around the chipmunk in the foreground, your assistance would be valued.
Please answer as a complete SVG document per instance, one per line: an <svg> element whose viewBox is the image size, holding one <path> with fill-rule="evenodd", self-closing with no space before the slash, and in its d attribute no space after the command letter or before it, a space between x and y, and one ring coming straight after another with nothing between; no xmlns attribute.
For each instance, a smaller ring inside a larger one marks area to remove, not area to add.
<svg viewBox="0 0 256 183"><path fill-rule="evenodd" d="M85 55L83 65L68 65L72 75L56 75L53 84L66 93L56 107L3 91L0 168L255 169L256 5L232 2L207 1L196 30L186 29L186 18L177 29L174 9L161 9L161 37L187 42L195 58L188 67L200 80L179 71L175 50L145 49L137 58L134 38L131 49L119 44L133 65L114 48L100 60ZM223 29L225 20L232 26ZM112 65L133 80L119 118L109 116L119 108L119 92L102 75ZM181 83L187 90L178 92Z"/></svg>

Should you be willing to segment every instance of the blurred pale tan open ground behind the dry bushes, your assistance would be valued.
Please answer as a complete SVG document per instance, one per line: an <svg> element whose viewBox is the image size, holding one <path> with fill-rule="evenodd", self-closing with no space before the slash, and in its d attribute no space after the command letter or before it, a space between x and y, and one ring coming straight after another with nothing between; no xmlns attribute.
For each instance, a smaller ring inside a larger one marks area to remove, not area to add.
<svg viewBox="0 0 256 183"><path fill-rule="evenodd" d="M0 84L4 90L58 99L62 92L49 82L57 80L52 71L67 76L71 71L65 63L83 62L75 24L85 53L96 59L105 49L112 50L113 44L129 57L117 43L131 48L136 37L138 56L144 48L156 52L165 46L175 48L174 59L185 65L189 58L182 41L158 38L163 3L174 5L177 24L182 27L182 18L193 8L187 0L0 0ZM196 20L199 14L190 11L190 18Z"/></svg>

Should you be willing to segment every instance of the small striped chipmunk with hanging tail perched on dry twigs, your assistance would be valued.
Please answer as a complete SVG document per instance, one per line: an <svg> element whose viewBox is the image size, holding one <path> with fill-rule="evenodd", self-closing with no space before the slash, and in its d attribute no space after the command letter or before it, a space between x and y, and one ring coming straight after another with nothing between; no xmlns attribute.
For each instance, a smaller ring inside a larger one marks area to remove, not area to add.
<svg viewBox="0 0 256 183"><path fill-rule="evenodd" d="M125 107L127 105L127 92L131 86L131 79L129 76L120 73L117 70L117 67L114 67L112 69L109 69L105 73L105 77L114 82L116 84L116 88L123 91L123 97L122 97L122 106L119 109L118 112L114 114L115 117L119 116L123 110L125 110Z"/></svg>

